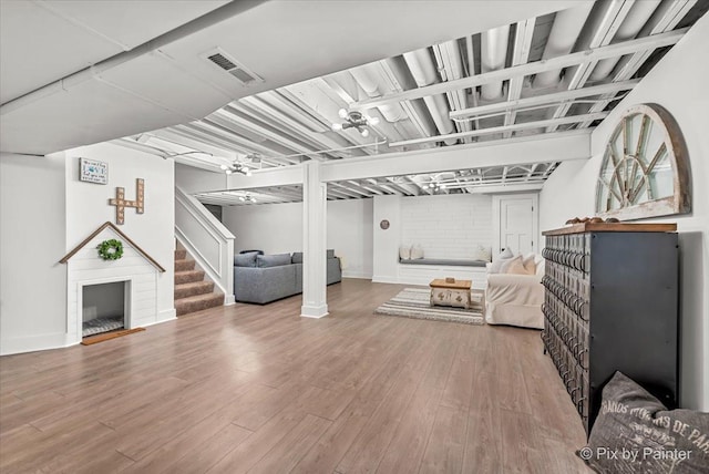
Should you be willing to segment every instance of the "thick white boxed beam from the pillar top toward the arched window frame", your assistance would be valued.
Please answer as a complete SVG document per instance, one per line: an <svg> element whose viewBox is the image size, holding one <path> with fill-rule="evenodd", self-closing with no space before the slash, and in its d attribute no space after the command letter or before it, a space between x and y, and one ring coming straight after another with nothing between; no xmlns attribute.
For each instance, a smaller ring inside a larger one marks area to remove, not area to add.
<svg viewBox="0 0 709 474"><path fill-rule="evenodd" d="M377 158L326 162L321 165L321 176L326 182L337 182L470 169L471 167L588 159L590 157L590 132L592 130L586 128L542 136L514 137L496 142L424 150L417 153L382 154Z"/></svg>

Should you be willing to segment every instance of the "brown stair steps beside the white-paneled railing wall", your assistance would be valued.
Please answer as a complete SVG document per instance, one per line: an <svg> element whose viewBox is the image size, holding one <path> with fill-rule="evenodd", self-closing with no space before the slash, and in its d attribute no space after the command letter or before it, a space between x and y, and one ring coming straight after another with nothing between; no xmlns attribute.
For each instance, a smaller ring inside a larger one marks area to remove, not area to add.
<svg viewBox="0 0 709 474"><path fill-rule="evenodd" d="M187 250L175 250L175 310L177 316L189 315L224 305L224 293L214 290L214 282L205 279L204 270L195 269L195 260Z"/></svg>

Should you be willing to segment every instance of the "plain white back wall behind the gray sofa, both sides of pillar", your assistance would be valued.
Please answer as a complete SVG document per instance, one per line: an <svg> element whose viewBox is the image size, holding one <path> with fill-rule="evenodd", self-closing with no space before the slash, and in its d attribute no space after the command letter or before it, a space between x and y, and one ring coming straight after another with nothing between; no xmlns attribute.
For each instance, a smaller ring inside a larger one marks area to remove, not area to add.
<svg viewBox="0 0 709 474"><path fill-rule="evenodd" d="M342 276L372 276L372 199L328 200L327 247L342 260ZM225 206L234 250L266 254L302 250L302 203Z"/></svg>

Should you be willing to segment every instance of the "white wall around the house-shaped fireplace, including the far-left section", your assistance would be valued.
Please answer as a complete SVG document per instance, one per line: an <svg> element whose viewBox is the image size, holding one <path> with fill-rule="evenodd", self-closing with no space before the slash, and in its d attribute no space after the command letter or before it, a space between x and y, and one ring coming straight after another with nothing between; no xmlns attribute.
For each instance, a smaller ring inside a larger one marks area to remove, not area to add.
<svg viewBox="0 0 709 474"><path fill-rule="evenodd" d="M109 164L109 184L79 181L79 157ZM157 278L155 323L175 317L174 163L111 144L48 157L0 158L0 353L51 349L76 342L68 330L68 269L59 260L106 220L115 223L115 187L135 197L145 179L145 214L125 212L121 226L167 271Z"/></svg>

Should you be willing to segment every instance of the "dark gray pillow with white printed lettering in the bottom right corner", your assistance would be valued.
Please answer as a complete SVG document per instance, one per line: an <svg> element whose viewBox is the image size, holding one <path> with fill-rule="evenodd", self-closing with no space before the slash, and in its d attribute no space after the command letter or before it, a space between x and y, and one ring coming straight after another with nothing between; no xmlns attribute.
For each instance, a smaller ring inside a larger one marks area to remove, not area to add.
<svg viewBox="0 0 709 474"><path fill-rule="evenodd" d="M602 395L588 445L578 451L596 472L707 472L709 413L668 411L620 372L613 375Z"/></svg>

